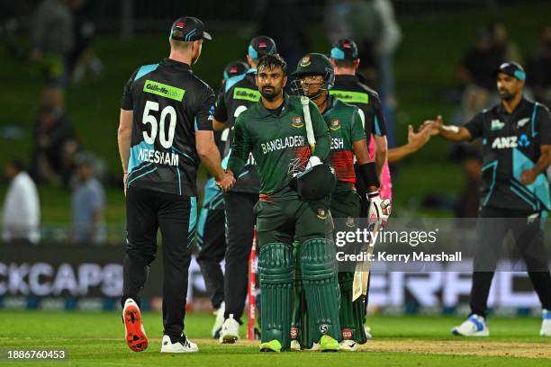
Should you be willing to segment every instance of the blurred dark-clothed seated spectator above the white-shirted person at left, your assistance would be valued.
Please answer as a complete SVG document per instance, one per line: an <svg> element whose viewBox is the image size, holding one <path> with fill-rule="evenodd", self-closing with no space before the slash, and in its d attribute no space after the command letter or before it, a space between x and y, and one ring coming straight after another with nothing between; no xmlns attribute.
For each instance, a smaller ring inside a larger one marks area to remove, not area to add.
<svg viewBox="0 0 551 367"><path fill-rule="evenodd" d="M77 149L77 139L65 113L57 107L42 106L34 129L34 178L39 183L67 185Z"/></svg>

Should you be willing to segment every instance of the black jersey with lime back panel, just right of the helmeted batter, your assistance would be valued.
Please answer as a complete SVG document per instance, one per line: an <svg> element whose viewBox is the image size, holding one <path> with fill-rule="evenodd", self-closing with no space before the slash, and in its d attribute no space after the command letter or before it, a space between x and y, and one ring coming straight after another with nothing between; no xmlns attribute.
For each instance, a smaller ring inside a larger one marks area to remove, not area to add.
<svg viewBox="0 0 551 367"><path fill-rule="evenodd" d="M368 143L371 134L380 137L386 135L383 107L379 94L362 84L357 76L335 76L335 84L331 87L330 94L342 102L357 106Z"/></svg>

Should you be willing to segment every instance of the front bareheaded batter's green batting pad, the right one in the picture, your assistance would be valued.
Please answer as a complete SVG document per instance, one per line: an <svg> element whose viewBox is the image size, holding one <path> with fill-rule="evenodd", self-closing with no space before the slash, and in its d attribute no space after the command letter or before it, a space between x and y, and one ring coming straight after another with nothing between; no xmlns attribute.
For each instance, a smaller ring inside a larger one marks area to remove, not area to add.
<svg viewBox="0 0 551 367"><path fill-rule="evenodd" d="M309 239L301 255L303 286L306 294L312 339L322 335L340 339L340 291L337 280L335 247L325 238Z"/></svg>

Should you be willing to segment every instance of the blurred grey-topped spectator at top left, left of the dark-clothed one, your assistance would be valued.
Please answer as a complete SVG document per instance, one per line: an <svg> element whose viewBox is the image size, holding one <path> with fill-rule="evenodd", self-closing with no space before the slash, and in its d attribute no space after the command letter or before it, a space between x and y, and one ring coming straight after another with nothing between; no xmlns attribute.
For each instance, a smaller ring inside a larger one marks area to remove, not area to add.
<svg viewBox="0 0 551 367"><path fill-rule="evenodd" d="M73 15L68 0L42 0L31 22L31 59L46 78L44 99L63 103L68 54L73 47Z"/></svg>

